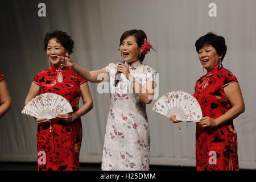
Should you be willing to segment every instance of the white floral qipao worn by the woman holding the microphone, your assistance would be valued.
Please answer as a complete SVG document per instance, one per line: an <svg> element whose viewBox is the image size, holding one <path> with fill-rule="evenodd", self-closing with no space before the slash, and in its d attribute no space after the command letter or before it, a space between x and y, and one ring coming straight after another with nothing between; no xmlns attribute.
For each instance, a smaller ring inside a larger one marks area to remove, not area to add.
<svg viewBox="0 0 256 182"><path fill-rule="evenodd" d="M106 125L102 170L149 170L150 131L144 104L123 73L114 86L118 63L104 69L109 76L111 104ZM140 61L129 65L142 86L155 80L156 71Z"/></svg>

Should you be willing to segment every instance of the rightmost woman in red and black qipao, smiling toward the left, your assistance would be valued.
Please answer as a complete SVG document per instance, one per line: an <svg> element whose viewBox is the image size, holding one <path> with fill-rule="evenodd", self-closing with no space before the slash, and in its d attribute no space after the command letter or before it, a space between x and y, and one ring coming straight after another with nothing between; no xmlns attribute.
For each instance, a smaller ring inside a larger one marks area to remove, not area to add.
<svg viewBox="0 0 256 182"><path fill-rule="evenodd" d="M196 81L193 96L199 101L203 118L196 125L196 169L239 170L237 133L233 119L245 111L236 76L222 67L225 39L209 32L196 41L200 63L207 74ZM175 116L171 117L174 122Z"/></svg>

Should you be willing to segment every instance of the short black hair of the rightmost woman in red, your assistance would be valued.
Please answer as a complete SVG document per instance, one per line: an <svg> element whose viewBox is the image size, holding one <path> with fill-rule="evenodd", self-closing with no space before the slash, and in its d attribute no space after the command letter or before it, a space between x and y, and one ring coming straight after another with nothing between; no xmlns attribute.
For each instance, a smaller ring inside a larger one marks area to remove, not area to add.
<svg viewBox="0 0 256 182"><path fill-rule="evenodd" d="M196 51L199 52L204 46L210 45L216 49L216 52L221 57L221 62L226 55L226 43L223 36L213 34L213 32L208 32L204 36L201 36L198 40L196 40Z"/></svg>

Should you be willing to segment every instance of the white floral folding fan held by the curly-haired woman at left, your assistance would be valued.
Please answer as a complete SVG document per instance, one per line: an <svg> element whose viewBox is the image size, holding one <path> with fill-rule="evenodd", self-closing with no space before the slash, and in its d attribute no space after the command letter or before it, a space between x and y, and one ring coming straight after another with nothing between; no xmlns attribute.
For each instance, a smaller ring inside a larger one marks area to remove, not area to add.
<svg viewBox="0 0 256 182"><path fill-rule="evenodd" d="M33 98L22 110L35 118L55 118L56 114L67 114L73 112L71 104L56 93L43 93Z"/></svg>

